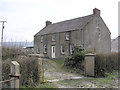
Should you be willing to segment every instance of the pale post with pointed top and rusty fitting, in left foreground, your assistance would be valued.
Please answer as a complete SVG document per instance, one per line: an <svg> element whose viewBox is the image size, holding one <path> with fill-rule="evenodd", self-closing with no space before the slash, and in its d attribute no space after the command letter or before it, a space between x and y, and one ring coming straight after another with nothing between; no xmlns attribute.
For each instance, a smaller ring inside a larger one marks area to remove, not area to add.
<svg viewBox="0 0 120 90"><path fill-rule="evenodd" d="M20 75L20 65L16 61L11 61L11 75L12 79L16 79L17 75ZM19 79L11 81L11 88L20 88Z"/></svg>

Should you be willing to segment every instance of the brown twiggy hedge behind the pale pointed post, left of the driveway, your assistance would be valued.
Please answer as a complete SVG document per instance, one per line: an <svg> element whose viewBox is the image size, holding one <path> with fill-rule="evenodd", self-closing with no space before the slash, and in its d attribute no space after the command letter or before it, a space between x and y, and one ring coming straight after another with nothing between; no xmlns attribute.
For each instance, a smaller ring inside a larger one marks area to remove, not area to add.
<svg viewBox="0 0 120 90"><path fill-rule="evenodd" d="M20 64L20 83L22 86L34 87L39 82L38 62L36 57L19 56L13 60ZM3 80L9 79L10 59L3 61Z"/></svg>

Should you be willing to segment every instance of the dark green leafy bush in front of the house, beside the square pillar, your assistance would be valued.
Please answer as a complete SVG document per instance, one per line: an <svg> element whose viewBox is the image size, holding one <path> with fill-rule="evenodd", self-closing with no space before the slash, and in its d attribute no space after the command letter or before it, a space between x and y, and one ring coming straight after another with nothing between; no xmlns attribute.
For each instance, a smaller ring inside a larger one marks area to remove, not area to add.
<svg viewBox="0 0 120 90"><path fill-rule="evenodd" d="M71 68L81 68L81 63L84 60L85 51L81 46L74 46L73 54L65 58L64 66L69 66Z"/></svg>

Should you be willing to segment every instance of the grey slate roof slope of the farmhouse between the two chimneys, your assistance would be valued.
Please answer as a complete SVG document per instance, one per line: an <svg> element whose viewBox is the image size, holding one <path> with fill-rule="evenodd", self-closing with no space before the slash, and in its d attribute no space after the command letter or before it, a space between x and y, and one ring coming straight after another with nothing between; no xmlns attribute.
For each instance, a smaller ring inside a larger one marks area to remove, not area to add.
<svg viewBox="0 0 120 90"><path fill-rule="evenodd" d="M58 32L66 32L66 31L72 31L72 30L81 30L92 19L93 19L93 14L84 16L84 17L71 19L71 20L58 22L58 23L53 23L53 24L48 25L47 27L44 27L35 36L58 33Z"/></svg>

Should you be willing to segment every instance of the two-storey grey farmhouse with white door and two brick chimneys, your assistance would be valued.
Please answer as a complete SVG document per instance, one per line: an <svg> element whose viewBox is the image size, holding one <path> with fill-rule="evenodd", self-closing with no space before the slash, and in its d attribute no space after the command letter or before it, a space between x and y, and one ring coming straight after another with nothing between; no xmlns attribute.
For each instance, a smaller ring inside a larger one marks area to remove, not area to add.
<svg viewBox="0 0 120 90"><path fill-rule="evenodd" d="M46 21L46 26L34 36L34 53L49 58L64 58L72 54L75 44L96 53L110 53L111 33L100 16L93 14L58 23Z"/></svg>

